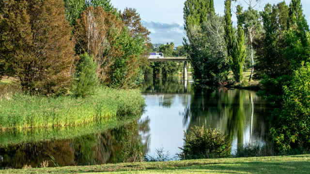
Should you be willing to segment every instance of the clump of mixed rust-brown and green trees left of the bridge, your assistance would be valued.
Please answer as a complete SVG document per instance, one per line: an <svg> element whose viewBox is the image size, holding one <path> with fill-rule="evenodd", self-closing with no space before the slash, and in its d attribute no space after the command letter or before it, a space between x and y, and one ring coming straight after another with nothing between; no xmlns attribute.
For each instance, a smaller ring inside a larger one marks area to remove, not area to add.
<svg viewBox="0 0 310 174"><path fill-rule="evenodd" d="M124 17L129 30L116 15L105 12L101 6L91 6L77 20L78 52L94 55L99 81L109 87L132 87L143 76L141 67L146 64L144 42L148 40L149 32L141 25L132 26L129 22L132 17L132 14ZM140 20L137 22L140 24Z"/></svg>

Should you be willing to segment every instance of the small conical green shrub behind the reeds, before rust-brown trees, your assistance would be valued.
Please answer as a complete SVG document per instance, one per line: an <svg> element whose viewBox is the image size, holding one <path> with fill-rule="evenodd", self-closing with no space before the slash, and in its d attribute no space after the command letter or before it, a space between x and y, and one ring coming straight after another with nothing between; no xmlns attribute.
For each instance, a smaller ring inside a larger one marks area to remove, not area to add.
<svg viewBox="0 0 310 174"><path fill-rule="evenodd" d="M88 56L86 53L80 56L73 85L73 92L76 97L93 95L98 84L96 68L97 65L96 62L93 62L93 56Z"/></svg>

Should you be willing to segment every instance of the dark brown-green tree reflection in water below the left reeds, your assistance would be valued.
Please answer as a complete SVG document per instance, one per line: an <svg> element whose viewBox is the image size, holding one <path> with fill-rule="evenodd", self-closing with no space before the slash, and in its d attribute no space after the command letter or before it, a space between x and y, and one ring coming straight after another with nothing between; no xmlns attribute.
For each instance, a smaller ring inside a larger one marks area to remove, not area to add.
<svg viewBox="0 0 310 174"><path fill-rule="evenodd" d="M44 161L49 166L141 161L148 151L148 138L142 138L140 134L147 134L148 125L149 119L143 119L116 129L67 139L7 145L0 143L0 168L22 168L25 165L40 167ZM4 134L1 137L8 136Z"/></svg>

